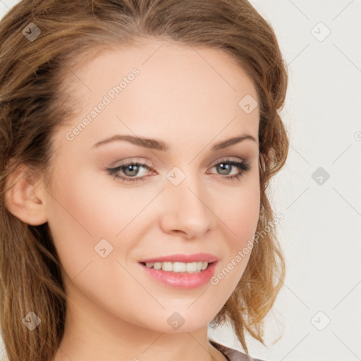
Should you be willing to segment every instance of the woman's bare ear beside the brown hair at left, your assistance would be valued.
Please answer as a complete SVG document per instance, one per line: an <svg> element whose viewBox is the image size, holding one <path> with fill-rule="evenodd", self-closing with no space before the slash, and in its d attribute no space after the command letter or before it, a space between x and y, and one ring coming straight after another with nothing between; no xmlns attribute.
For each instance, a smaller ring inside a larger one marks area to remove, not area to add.
<svg viewBox="0 0 361 361"><path fill-rule="evenodd" d="M35 181L37 172L25 166L18 167L6 182L5 207L26 224L39 226L47 222L46 191L42 181Z"/></svg>

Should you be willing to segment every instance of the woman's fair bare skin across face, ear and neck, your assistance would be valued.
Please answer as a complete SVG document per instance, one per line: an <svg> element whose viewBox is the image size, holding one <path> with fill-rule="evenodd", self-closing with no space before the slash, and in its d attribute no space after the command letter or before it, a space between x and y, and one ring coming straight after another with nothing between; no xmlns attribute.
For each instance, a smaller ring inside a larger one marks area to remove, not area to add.
<svg viewBox="0 0 361 361"><path fill-rule="evenodd" d="M133 68L140 74L79 135L66 139ZM217 274L254 235L259 111L246 114L238 106L246 94L257 99L252 81L220 50L156 39L103 51L65 81L80 111L54 134L51 181L35 186L23 180L8 204L28 224L48 222L63 265L68 314L54 360L226 360L210 345L207 325L233 292L250 253L216 286L190 290L159 283L138 261L209 252L219 257ZM125 141L92 148L115 134L162 140L170 149ZM256 141L210 150L243 134ZM215 166L229 158L246 159L250 170L239 180L226 179L240 173L235 166L228 173ZM144 181L123 183L105 170L130 159L152 170L118 173L146 176ZM166 178L175 166L185 174L179 185ZM94 252L103 238L113 247L105 258ZM167 322L173 312L185 320L177 330Z"/></svg>

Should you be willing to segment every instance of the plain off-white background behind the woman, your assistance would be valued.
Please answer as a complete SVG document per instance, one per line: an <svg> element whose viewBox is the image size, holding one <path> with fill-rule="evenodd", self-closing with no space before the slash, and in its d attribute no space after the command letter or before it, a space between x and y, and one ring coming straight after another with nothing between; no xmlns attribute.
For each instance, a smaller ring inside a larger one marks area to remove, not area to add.
<svg viewBox="0 0 361 361"><path fill-rule="evenodd" d="M287 164L269 189L285 217L287 276L266 320L267 347L247 336L250 355L361 360L361 1L250 2L288 63L281 114L290 136ZM17 3L0 0L0 17ZM229 327L209 337L242 350Z"/></svg>

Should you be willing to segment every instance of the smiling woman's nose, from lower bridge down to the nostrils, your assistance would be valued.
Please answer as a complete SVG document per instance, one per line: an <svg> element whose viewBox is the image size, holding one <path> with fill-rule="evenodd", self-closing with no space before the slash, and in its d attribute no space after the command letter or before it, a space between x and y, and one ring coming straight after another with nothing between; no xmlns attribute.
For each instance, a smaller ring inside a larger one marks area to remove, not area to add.
<svg viewBox="0 0 361 361"><path fill-rule="evenodd" d="M207 192L198 181L187 176L179 185L168 183L162 193L164 207L160 223L164 232L195 239L209 231L213 213Z"/></svg>

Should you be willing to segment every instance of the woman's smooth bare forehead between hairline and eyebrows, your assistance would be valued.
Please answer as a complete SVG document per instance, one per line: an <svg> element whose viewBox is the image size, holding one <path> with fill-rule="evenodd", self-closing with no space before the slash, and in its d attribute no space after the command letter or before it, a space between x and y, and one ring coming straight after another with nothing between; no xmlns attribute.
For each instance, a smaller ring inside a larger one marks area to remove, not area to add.
<svg viewBox="0 0 361 361"><path fill-rule="evenodd" d="M159 138L162 131L173 134L170 141L192 133L257 135L258 107L247 114L240 106L245 97L258 102L257 92L224 51L153 39L97 49L75 65L66 82L78 115L63 133L87 118L77 142L111 133Z"/></svg>

